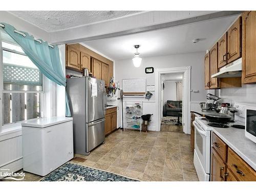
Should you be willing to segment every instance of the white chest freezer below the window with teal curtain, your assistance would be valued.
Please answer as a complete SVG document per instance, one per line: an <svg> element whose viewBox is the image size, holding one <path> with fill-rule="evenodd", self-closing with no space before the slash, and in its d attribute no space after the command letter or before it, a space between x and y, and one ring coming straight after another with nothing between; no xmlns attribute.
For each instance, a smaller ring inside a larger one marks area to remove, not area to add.
<svg viewBox="0 0 256 192"><path fill-rule="evenodd" d="M51 117L22 123L23 169L46 176L74 157L73 118Z"/></svg>

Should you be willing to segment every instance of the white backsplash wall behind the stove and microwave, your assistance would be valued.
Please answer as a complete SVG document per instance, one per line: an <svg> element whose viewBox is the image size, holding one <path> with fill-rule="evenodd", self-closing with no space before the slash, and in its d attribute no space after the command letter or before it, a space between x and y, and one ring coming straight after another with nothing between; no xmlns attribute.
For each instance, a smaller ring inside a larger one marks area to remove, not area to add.
<svg viewBox="0 0 256 192"><path fill-rule="evenodd" d="M234 102L256 103L256 84L245 84L242 85L242 88L221 89L217 91L216 95L225 98L221 99L221 102L229 102L232 105Z"/></svg>

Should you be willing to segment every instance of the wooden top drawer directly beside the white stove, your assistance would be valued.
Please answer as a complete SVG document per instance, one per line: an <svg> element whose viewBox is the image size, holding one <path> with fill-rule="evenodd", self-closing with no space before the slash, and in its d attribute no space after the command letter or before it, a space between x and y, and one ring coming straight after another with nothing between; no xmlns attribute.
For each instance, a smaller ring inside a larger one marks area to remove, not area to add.
<svg viewBox="0 0 256 192"><path fill-rule="evenodd" d="M215 148L222 160L227 160L227 144L224 143L215 133L212 133L212 147Z"/></svg>

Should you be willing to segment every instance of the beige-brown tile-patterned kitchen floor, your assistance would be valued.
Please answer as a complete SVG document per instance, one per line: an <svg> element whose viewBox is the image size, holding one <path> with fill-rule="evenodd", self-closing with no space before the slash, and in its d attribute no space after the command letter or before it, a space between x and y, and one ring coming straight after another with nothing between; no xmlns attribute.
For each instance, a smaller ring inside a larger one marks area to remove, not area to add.
<svg viewBox="0 0 256 192"><path fill-rule="evenodd" d="M89 156L78 163L141 181L198 181L190 149L190 137L184 133L117 130ZM41 177L26 173L25 181Z"/></svg>

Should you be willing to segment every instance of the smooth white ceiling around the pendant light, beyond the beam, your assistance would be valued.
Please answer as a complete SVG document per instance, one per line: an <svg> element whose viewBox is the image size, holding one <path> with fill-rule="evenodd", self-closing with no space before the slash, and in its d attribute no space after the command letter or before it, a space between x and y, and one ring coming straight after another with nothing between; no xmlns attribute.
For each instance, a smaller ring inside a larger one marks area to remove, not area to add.
<svg viewBox="0 0 256 192"><path fill-rule="evenodd" d="M132 59L136 49L140 57L153 57L205 51L217 41L238 16L229 16L157 31L87 41L83 44L114 59ZM193 40L200 41L193 44Z"/></svg>

